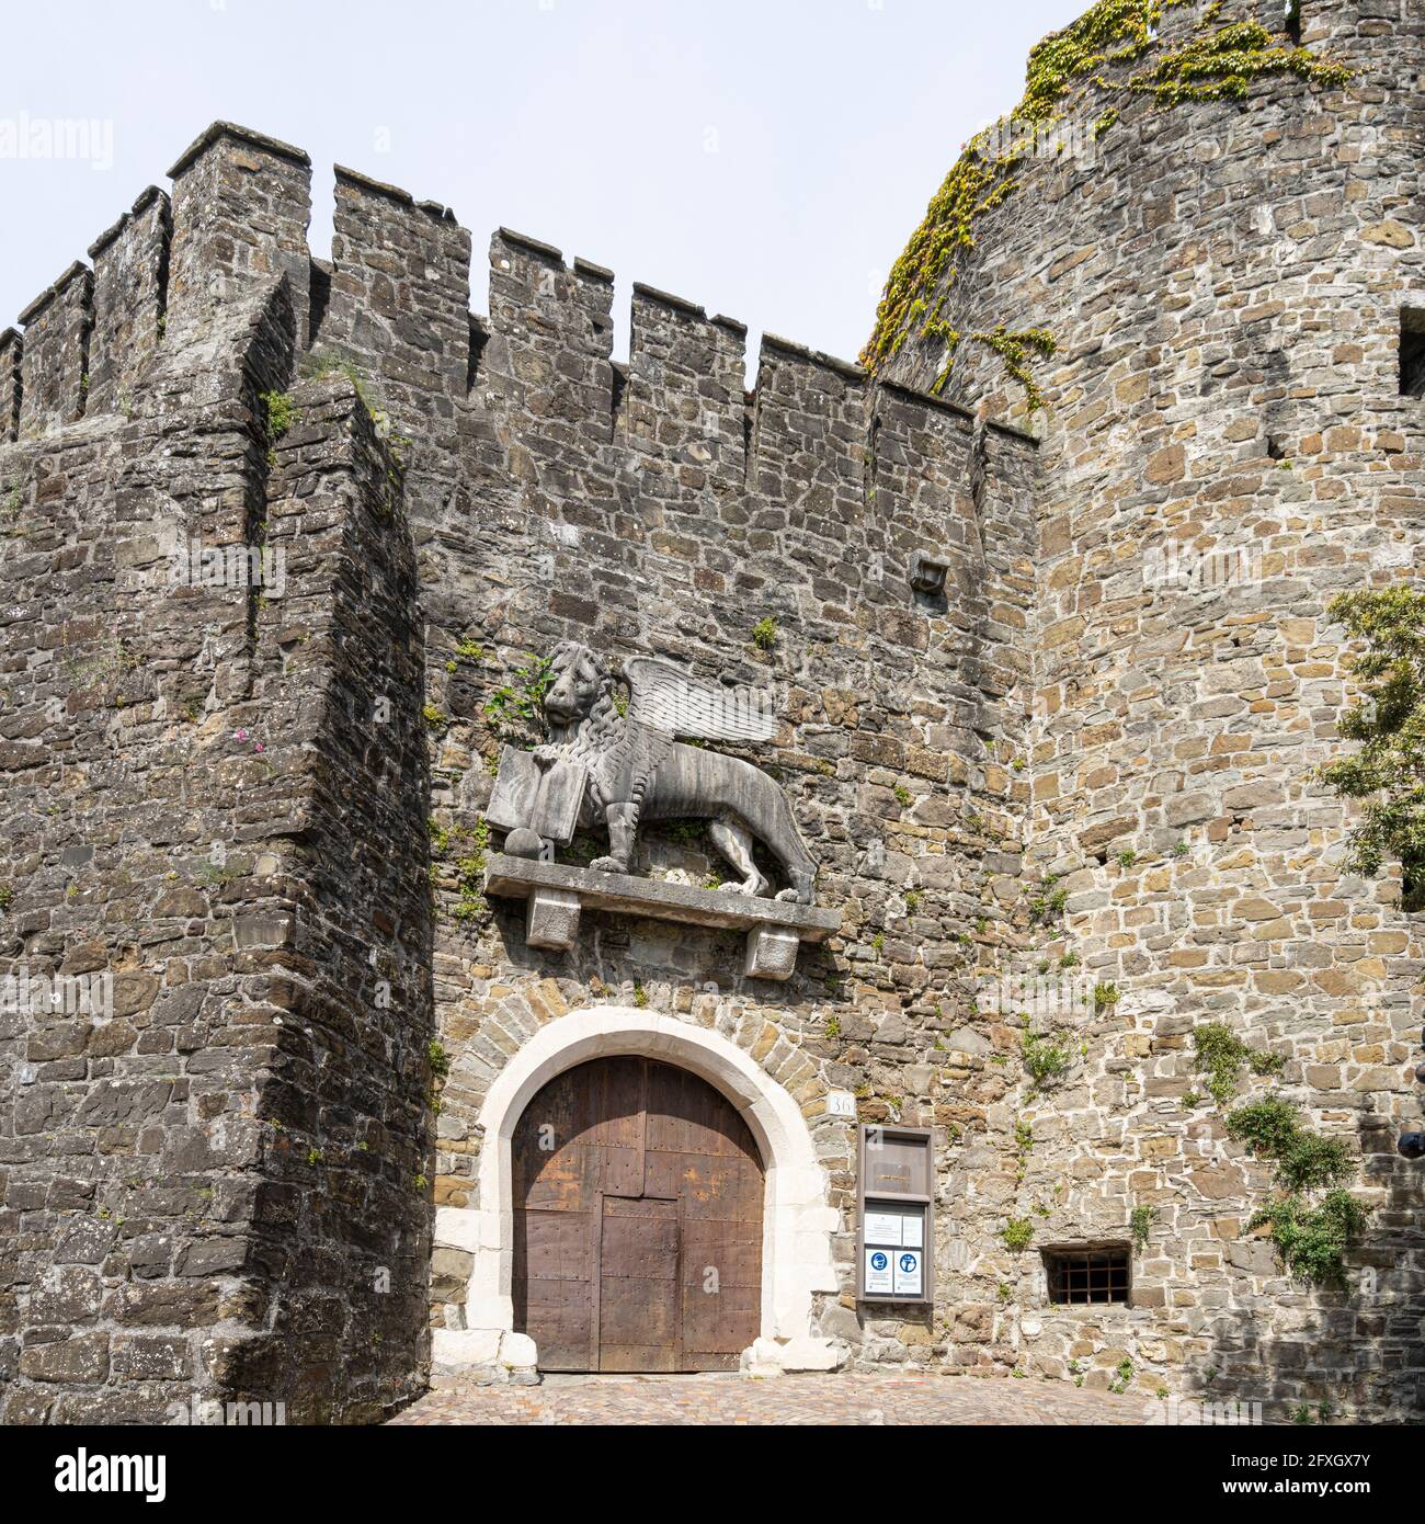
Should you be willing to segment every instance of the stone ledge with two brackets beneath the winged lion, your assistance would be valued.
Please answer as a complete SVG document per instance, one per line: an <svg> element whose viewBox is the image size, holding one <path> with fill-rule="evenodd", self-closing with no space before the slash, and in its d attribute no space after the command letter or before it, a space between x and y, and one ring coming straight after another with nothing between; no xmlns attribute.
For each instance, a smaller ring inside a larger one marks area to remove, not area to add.
<svg viewBox="0 0 1425 1524"><path fill-rule="evenodd" d="M567 952L578 942L579 914L585 908L745 931L744 972L751 978L791 978L797 948L803 942L825 942L841 930L840 910L796 905L785 899L753 899L724 890L599 873L503 853L486 860L485 893L526 901L526 940L532 948L558 952Z"/></svg>

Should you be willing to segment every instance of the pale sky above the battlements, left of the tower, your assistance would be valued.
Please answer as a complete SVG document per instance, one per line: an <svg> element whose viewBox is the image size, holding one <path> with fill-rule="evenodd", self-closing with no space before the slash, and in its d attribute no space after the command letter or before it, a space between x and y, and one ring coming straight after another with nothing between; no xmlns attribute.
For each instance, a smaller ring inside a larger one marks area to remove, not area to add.
<svg viewBox="0 0 1425 1524"><path fill-rule="evenodd" d="M1030 46L1088 0L72 0L8 5L0 328L212 120L852 360L892 259ZM35 122L88 158L21 157ZM9 131L6 131L9 128ZM111 145L111 152L110 152ZM108 162L111 158L111 162Z"/></svg>

